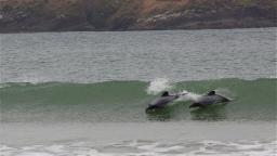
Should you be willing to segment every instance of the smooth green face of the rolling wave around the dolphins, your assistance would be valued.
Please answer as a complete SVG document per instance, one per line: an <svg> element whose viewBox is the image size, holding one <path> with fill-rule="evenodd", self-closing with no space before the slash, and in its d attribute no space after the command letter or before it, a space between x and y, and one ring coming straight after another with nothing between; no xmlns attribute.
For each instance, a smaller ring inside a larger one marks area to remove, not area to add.
<svg viewBox="0 0 277 156"><path fill-rule="evenodd" d="M147 121L147 120L275 120L276 79L217 79L173 83L171 92L203 94L227 90L233 102L189 109L177 101L154 113L145 113L157 95L147 94L149 82L5 83L0 89L2 121Z"/></svg>

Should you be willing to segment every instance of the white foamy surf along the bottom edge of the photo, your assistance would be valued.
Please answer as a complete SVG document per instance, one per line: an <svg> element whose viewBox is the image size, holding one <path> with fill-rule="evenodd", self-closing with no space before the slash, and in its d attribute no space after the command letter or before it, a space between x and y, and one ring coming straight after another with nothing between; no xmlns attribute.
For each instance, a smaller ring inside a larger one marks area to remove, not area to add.
<svg viewBox="0 0 277 156"><path fill-rule="evenodd" d="M110 144L71 142L22 147L0 146L2 156L275 156L277 142L238 141L163 143L151 141L122 141Z"/></svg>

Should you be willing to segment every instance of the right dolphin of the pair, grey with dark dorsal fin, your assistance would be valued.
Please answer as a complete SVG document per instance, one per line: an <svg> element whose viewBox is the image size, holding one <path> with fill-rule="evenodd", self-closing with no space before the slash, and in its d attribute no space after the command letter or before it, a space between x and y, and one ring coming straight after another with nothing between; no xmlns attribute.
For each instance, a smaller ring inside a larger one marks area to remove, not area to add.
<svg viewBox="0 0 277 156"><path fill-rule="evenodd" d="M193 101L194 103L189 106L193 107L206 107L208 105L216 103L225 103L233 101L229 98L215 93L215 91L210 91L208 94L200 96L199 99Z"/></svg>

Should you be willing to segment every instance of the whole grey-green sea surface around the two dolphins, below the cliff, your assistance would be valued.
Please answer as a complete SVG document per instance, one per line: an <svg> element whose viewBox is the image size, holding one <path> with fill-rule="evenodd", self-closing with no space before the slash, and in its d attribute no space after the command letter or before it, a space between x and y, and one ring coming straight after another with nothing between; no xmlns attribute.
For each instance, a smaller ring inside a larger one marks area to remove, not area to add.
<svg viewBox="0 0 277 156"><path fill-rule="evenodd" d="M0 35L1 156L276 156L276 28ZM164 90L186 92L146 113ZM233 99L189 109L211 90Z"/></svg>

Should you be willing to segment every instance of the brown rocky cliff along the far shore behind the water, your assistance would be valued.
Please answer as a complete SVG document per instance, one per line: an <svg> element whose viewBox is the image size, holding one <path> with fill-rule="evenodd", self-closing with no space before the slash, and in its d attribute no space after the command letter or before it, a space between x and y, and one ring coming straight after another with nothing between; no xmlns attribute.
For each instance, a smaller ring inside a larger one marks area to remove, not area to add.
<svg viewBox="0 0 277 156"><path fill-rule="evenodd" d="M0 0L0 32L277 26L276 0Z"/></svg>

